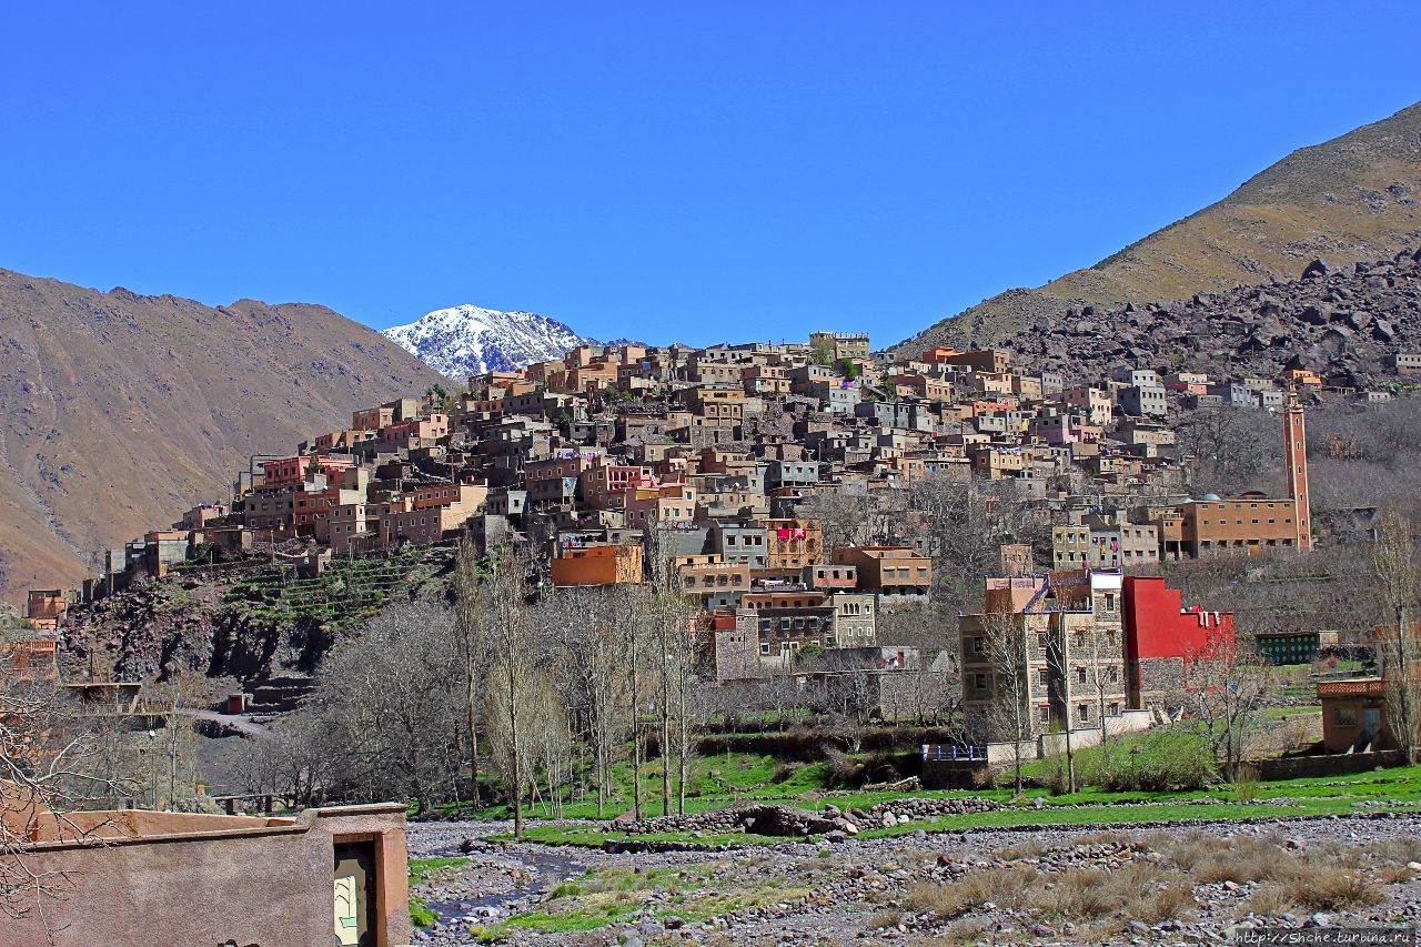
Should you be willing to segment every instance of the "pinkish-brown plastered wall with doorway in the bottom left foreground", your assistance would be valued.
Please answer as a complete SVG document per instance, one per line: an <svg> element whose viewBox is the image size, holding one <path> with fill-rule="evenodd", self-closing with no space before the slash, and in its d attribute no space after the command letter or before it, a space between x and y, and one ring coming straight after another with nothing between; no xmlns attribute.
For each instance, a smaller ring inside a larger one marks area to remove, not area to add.
<svg viewBox="0 0 1421 947"><path fill-rule="evenodd" d="M43 946L48 943L47 923L58 947L409 943L401 805L307 809L296 819L237 816L230 822L180 813L145 813L148 818L134 822L125 813L112 815L115 822L97 833L115 838L95 840L90 833L85 840L30 846L30 866L60 873L54 887L63 897L30 901L27 916L4 917L0 941ZM128 835L135 829L146 835ZM371 869L368 880L360 876L369 913L348 924L344 941L334 940L335 892L341 889L337 845L368 852Z"/></svg>

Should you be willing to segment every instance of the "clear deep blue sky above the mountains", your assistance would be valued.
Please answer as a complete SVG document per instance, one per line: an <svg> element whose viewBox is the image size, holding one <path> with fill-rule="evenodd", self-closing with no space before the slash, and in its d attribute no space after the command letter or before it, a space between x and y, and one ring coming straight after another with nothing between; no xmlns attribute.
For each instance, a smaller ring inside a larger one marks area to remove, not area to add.
<svg viewBox="0 0 1421 947"><path fill-rule="evenodd" d="M892 343L1421 98L1414 6L13 4L0 267Z"/></svg>

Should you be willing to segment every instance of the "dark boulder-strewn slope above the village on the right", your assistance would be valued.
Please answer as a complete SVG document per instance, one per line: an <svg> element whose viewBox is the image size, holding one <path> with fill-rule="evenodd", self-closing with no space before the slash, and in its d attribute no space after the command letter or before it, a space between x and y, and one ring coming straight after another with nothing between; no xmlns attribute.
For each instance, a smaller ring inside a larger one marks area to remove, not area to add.
<svg viewBox="0 0 1421 947"><path fill-rule="evenodd" d="M1287 367L1366 388L1397 351L1421 350L1421 250L1189 300L1070 307L1000 340L1023 364L1093 380L1118 365L1229 378Z"/></svg>

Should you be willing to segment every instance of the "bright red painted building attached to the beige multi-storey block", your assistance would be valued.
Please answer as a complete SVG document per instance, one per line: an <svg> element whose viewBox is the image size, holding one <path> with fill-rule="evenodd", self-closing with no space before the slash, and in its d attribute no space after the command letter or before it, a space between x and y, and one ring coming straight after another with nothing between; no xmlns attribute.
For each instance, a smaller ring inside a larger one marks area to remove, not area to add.
<svg viewBox="0 0 1421 947"><path fill-rule="evenodd" d="M1233 640L1232 611L1184 607L1160 576L1125 576L1125 664L1130 705L1162 704L1188 688L1188 658Z"/></svg>

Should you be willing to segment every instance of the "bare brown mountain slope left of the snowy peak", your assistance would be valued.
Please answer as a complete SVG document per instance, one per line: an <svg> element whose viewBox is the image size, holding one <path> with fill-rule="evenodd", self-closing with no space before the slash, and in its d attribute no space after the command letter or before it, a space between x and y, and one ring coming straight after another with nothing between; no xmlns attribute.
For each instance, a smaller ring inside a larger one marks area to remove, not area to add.
<svg viewBox="0 0 1421 947"><path fill-rule="evenodd" d="M102 293L0 270L0 596L226 493L252 454L436 371L323 306Z"/></svg>

